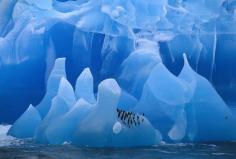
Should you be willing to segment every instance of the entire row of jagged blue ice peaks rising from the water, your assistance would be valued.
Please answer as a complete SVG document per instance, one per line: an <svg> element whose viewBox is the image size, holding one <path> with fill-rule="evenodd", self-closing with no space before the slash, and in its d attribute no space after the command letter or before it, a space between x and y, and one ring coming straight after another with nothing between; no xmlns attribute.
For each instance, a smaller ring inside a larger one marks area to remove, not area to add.
<svg viewBox="0 0 236 159"><path fill-rule="evenodd" d="M95 95L89 68L82 71L73 90L65 76L58 76L65 69L65 59L59 58L50 79L60 80L48 83L48 92L52 85L57 92L46 94L35 107L30 105L8 134L44 144L86 147L235 140L236 116L212 85L192 70L185 54L184 61L178 77L157 64L140 100L134 100L111 78L100 82Z"/></svg>

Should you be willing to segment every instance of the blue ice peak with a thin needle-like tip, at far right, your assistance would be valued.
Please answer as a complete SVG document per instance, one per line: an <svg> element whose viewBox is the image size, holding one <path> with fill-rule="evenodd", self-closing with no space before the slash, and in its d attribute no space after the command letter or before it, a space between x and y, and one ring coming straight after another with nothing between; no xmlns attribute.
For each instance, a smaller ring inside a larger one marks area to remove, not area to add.
<svg viewBox="0 0 236 159"><path fill-rule="evenodd" d="M194 85L191 86L194 89L192 99L185 107L188 139L201 142L235 140L235 116L212 85L191 69L186 56L179 77Z"/></svg>

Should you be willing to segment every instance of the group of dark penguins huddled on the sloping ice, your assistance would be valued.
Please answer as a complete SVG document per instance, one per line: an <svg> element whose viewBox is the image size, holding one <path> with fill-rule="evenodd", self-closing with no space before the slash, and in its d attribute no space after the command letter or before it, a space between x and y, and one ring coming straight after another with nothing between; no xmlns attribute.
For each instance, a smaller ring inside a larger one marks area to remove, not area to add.
<svg viewBox="0 0 236 159"><path fill-rule="evenodd" d="M136 114L134 112L128 112L122 109L116 109L117 117L122 121L127 127L139 126L144 122L144 113L142 115Z"/></svg>

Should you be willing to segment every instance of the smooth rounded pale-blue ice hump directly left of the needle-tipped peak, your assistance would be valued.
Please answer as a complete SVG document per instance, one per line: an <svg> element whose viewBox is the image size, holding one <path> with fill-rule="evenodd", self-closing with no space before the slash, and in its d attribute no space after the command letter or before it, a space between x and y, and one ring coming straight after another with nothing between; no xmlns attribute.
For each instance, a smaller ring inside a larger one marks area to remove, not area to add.
<svg viewBox="0 0 236 159"><path fill-rule="evenodd" d="M187 88L181 80L160 63L152 69L134 109L144 113L168 140L168 136L164 135L168 134L189 100L186 91Z"/></svg>

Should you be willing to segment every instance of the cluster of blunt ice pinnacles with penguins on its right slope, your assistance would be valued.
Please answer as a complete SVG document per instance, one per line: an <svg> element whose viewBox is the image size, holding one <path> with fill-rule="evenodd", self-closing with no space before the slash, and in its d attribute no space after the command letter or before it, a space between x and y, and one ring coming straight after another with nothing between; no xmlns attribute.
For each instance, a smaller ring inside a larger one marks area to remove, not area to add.
<svg viewBox="0 0 236 159"><path fill-rule="evenodd" d="M74 91L67 79L61 77L46 116L41 118L38 109L30 106L8 134L44 144L72 143L88 147L149 146L162 141L162 135L146 117L131 112L131 108L125 111L119 107L121 101L126 104L125 101L134 97L122 93L114 79L99 84L97 99L92 91L92 79L90 70L84 69Z"/></svg>

